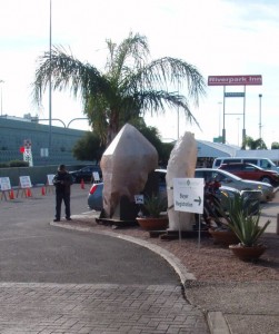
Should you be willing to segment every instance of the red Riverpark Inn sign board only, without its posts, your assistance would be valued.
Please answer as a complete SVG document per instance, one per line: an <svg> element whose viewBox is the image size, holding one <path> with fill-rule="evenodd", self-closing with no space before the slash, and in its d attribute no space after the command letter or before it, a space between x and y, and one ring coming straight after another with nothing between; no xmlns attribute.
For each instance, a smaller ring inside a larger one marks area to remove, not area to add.
<svg viewBox="0 0 279 334"><path fill-rule="evenodd" d="M262 85L261 76L210 76L208 86L255 86Z"/></svg>

